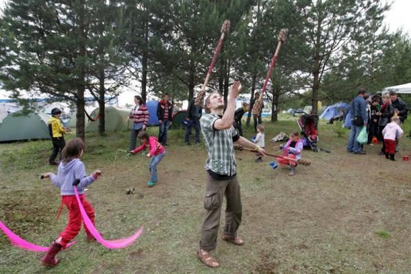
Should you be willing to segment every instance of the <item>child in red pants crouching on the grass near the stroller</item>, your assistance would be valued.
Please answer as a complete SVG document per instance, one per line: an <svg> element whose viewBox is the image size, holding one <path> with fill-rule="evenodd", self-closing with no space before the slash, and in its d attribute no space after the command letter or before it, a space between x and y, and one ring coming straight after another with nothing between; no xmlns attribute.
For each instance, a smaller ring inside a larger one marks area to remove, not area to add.
<svg viewBox="0 0 411 274"><path fill-rule="evenodd" d="M301 151L303 151L303 141L299 138L298 132L292 132L290 136L290 140L286 143L286 145L280 145L279 149L283 152L284 157L295 159L296 161L287 160L283 158L277 158L278 163L281 166L285 166L286 164L290 165L290 173L288 175L292 176L295 175L295 167L297 166L297 161L301 159Z"/></svg>

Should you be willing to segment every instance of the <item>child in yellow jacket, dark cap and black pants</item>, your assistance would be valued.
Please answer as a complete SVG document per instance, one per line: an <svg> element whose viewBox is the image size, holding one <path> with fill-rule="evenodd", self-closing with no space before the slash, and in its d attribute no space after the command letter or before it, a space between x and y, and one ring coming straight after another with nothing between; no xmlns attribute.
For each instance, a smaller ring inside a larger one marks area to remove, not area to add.
<svg viewBox="0 0 411 274"><path fill-rule="evenodd" d="M59 152L61 158L61 152L66 146L64 134L69 131L68 128L62 125L62 121L60 120L61 114L62 111L60 109L53 108L53 110L51 110L51 119L48 122L51 143L53 144L53 152L49 158L49 164L51 165L58 165L58 162L55 162L55 158L57 158Z"/></svg>

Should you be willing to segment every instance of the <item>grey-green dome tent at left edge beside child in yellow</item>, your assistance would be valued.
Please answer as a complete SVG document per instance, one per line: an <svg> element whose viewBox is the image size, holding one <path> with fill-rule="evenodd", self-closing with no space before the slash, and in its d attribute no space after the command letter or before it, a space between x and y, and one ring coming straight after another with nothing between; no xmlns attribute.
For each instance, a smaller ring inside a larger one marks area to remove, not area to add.
<svg viewBox="0 0 411 274"><path fill-rule="evenodd" d="M47 121L50 116L45 113L23 114L18 111L5 117L0 126L0 142L18 140L49 139Z"/></svg>

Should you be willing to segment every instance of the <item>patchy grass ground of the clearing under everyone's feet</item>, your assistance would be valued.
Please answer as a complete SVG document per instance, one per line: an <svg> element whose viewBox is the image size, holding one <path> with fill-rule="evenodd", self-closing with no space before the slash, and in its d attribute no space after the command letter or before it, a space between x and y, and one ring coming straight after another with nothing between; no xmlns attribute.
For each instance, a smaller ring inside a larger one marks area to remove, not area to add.
<svg viewBox="0 0 411 274"><path fill-rule="evenodd" d="M264 125L270 152L278 145L270 138L297 129L294 121ZM319 132L320 147L332 153L304 151L312 164L298 166L293 177L287 169L271 169L270 158L256 163L253 153L237 151L239 235L246 244L219 240L216 270L196 258L205 147L186 146L184 132L170 132L159 183L148 188L147 158L117 150L127 149L129 132L87 134L87 171L103 171L86 192L97 229L108 239L129 236L141 225L144 233L131 247L108 250L87 243L82 231L59 253L54 269L40 266L42 254L12 247L0 233L0 273L411 273L411 162L401 160L411 154L410 138L401 140L397 162L391 162L377 155L379 147L366 146L367 155L347 153L349 132L338 125L321 124ZM251 127L245 134L251 138ZM0 220L37 245L49 245L67 218L64 209L55 219L58 188L38 179L56 170L47 164L50 153L51 143L43 140L0 145ZM134 195L126 195L130 187Z"/></svg>

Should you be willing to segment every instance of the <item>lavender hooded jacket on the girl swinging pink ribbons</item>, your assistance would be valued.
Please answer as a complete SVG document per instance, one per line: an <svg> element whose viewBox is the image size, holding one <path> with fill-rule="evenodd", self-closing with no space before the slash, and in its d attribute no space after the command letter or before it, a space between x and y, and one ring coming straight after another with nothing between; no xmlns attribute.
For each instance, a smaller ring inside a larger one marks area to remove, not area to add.
<svg viewBox="0 0 411 274"><path fill-rule="evenodd" d="M80 179L80 183L77 185L77 192L79 195L84 194L84 188L95 182L97 175L86 175L86 167L79 159L73 159L70 162L64 164L60 162L57 170L57 175L50 174L51 182L54 186L60 188L61 195L75 195L73 189L73 182L76 179Z"/></svg>

